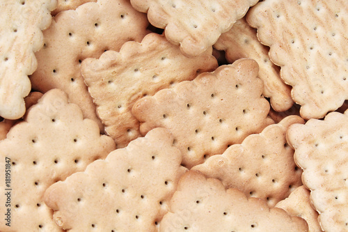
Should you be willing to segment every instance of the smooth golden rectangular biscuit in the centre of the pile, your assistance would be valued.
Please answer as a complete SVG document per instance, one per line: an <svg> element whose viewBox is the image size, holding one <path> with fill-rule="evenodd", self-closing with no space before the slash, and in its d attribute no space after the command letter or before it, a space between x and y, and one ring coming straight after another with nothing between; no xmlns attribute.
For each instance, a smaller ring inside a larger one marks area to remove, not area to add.
<svg viewBox="0 0 348 232"><path fill-rule="evenodd" d="M141 122L141 134L155 127L170 130L190 169L273 123L257 75L258 63L240 59L141 98L132 113Z"/></svg>

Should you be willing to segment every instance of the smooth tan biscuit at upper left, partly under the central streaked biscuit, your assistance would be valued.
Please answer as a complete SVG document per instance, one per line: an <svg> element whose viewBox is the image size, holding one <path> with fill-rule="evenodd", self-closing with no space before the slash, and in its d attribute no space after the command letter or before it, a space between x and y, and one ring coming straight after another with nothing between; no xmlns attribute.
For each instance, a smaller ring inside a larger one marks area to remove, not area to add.
<svg viewBox="0 0 348 232"><path fill-rule="evenodd" d="M81 77L81 62L88 57L99 58L105 50L118 51L126 41L141 41L148 33L147 26L146 15L134 10L127 0L85 3L56 15L44 31L44 48L35 54L38 69L31 75L33 88L42 93L62 89L81 107L84 117L99 123L102 131Z"/></svg>

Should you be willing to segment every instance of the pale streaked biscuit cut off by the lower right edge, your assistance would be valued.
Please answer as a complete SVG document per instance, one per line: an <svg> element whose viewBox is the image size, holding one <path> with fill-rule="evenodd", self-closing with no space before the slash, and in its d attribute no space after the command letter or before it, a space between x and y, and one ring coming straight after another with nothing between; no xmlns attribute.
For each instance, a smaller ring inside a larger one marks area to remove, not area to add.
<svg viewBox="0 0 348 232"><path fill-rule="evenodd" d="M287 140L323 231L348 230L348 111L294 124Z"/></svg>

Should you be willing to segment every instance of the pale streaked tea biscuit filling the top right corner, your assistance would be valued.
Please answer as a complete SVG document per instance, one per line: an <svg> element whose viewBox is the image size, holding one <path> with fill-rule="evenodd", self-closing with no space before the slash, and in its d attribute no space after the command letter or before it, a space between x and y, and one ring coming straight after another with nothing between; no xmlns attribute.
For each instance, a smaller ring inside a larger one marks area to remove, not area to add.
<svg viewBox="0 0 348 232"><path fill-rule="evenodd" d="M304 119L322 118L348 99L347 1L266 0L246 20L271 47Z"/></svg>

